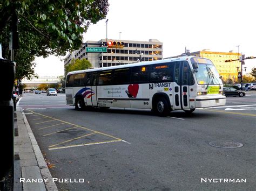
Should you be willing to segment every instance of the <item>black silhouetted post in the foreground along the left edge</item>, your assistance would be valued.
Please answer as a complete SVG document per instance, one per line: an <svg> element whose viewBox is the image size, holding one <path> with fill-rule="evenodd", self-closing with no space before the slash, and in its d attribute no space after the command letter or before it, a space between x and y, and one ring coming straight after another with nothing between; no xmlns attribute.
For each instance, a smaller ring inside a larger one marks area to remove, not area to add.
<svg viewBox="0 0 256 191"><path fill-rule="evenodd" d="M2 58L2 47L0 49L0 75L2 93L0 94L0 189L6 190L5 177L9 172L14 172L14 102L12 101L12 90L15 80L14 49L18 49L18 17L16 12L11 16L10 46L11 60ZM1 42L0 42L1 43Z"/></svg>

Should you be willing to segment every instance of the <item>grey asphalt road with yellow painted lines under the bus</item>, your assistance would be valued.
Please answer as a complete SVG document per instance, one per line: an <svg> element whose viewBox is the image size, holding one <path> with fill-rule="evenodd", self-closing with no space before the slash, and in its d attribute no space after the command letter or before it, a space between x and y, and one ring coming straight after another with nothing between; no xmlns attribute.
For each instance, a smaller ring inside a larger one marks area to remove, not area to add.
<svg viewBox="0 0 256 191"><path fill-rule="evenodd" d="M19 106L60 190L254 190L256 91L224 107L76 111L58 96L23 94ZM242 143L213 147L216 140ZM61 183L61 179L83 183ZM207 179L207 182L202 181ZM211 182L208 179L212 179ZM213 179L218 182L213 182ZM246 179L224 182L220 179Z"/></svg>

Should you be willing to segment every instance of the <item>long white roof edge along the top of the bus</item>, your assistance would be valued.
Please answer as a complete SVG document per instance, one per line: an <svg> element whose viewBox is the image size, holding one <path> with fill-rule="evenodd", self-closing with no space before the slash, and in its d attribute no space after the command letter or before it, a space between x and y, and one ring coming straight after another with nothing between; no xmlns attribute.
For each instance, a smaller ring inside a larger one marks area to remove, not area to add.
<svg viewBox="0 0 256 191"><path fill-rule="evenodd" d="M127 68L127 67L136 67L136 66L146 66L146 65L153 65L155 63L166 63L166 62L172 62L172 61L184 61L188 60L190 58L201 58L197 56L182 56L178 58L170 58L170 59L164 59L164 60L154 60L154 61L146 61L146 62L137 62L137 63L129 63L126 65L119 65L119 66L109 66L109 67L101 67L101 68L93 68L93 69L84 69L84 70L76 70L69 72L67 75L70 74L79 74L84 72L95 72L95 71L104 71L104 70L110 70L110 69L118 69L118 68ZM206 58L203 58L206 59ZM209 59L207 59L209 60Z"/></svg>

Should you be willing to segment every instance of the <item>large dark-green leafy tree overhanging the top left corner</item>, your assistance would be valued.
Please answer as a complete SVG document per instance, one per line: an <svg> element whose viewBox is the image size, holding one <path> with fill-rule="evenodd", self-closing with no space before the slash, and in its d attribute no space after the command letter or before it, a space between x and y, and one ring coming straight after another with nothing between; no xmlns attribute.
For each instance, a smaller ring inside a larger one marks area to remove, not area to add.
<svg viewBox="0 0 256 191"><path fill-rule="evenodd" d="M65 55L78 49L91 23L105 18L107 0L51 1L5 0L0 3L0 43L10 60L9 32L12 15L19 18L19 49L15 51L16 78L31 79L35 56Z"/></svg>

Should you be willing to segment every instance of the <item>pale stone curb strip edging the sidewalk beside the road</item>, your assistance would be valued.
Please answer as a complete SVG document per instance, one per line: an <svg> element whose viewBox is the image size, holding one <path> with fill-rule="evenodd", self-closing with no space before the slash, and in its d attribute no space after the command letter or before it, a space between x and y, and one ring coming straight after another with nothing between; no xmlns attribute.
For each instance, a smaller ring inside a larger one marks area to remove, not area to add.
<svg viewBox="0 0 256 191"><path fill-rule="evenodd" d="M24 123L25 123L25 126L26 126L26 130L28 131L29 138L31 140L33 151L34 151L34 153L36 155L37 164L38 164L38 167L40 169L42 178L43 179L48 179L47 182L44 182L45 187L46 187L47 190L58 190L55 182L52 181L51 173L49 171L48 166L46 165L46 162L44 160L43 154L42 154L42 152L41 152L41 150L40 150L40 148L39 148L39 146L37 144L36 138L33 135L33 132L32 132L32 130L30 128L29 122L26 119L26 115L24 114L23 109L21 107L17 107L17 108L22 113L23 120L24 120Z"/></svg>

